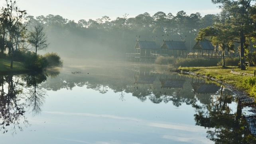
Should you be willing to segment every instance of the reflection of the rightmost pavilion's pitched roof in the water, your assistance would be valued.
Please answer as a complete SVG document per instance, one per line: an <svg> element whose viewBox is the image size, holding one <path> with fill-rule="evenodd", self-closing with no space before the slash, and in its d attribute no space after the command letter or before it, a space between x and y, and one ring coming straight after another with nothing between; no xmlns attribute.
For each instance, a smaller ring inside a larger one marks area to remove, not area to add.
<svg viewBox="0 0 256 144"><path fill-rule="evenodd" d="M191 83L194 92L197 93L216 93L220 86L213 83Z"/></svg>

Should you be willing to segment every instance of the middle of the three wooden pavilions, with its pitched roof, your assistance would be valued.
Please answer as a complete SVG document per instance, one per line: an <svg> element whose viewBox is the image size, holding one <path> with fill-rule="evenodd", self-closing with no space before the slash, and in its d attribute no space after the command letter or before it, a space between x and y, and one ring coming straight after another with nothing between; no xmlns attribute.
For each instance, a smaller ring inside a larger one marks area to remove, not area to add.
<svg viewBox="0 0 256 144"><path fill-rule="evenodd" d="M169 41L164 40L160 49L161 49L162 56L183 56L183 55L186 55L186 51L187 51L185 42L170 41L170 40ZM183 51L185 53L183 53Z"/></svg>

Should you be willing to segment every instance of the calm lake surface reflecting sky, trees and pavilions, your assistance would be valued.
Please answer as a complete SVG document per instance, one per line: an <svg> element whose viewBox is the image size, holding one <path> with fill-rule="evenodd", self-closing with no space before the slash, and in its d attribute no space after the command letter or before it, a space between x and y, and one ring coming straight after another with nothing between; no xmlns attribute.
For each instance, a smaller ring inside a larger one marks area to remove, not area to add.
<svg viewBox="0 0 256 144"><path fill-rule="evenodd" d="M246 111L221 85L153 64L64 62L59 71L0 76L2 143L255 142Z"/></svg>

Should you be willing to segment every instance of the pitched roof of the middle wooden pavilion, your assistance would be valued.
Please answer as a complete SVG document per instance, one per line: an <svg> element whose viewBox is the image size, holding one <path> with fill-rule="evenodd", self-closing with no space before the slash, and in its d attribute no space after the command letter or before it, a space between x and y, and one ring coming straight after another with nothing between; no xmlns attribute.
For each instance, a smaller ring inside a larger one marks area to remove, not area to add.
<svg viewBox="0 0 256 144"><path fill-rule="evenodd" d="M169 50L187 50L185 46L185 42L177 42L177 41L163 41L161 45L162 49L169 49Z"/></svg>

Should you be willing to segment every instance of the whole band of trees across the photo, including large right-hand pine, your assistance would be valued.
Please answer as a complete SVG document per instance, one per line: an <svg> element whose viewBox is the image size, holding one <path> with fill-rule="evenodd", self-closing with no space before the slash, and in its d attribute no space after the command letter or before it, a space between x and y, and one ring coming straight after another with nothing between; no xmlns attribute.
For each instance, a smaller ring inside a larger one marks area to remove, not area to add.
<svg viewBox="0 0 256 144"><path fill-rule="evenodd" d="M0 15L0 52L8 51L8 55L14 56L18 48L28 49L30 44L37 53L37 49L45 49L51 43L52 48L63 56L95 58L96 54L96 58L106 55L113 57L116 54L134 52L136 36L140 40L156 40L160 46L162 40L166 39L162 36L168 35L167 40L173 41L186 37L184 41L189 52L196 40L210 40L216 48L222 50L223 66L225 52L231 51L240 54L241 69L244 69L245 61L255 63L256 54L252 51L256 29L255 0L212 2L221 4L221 13L201 16L199 12L188 15L183 10L176 15L164 12L150 15L145 12L130 18L128 14L124 14L111 20L105 15L95 20L80 19L75 22L60 15L33 17L26 11L11 6L15 2L6 0L6 8L2 8ZM15 18L11 13L16 14ZM45 28L49 43L43 33L43 44L38 47L35 39L28 38L35 38L35 31L40 31L41 28Z"/></svg>

